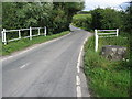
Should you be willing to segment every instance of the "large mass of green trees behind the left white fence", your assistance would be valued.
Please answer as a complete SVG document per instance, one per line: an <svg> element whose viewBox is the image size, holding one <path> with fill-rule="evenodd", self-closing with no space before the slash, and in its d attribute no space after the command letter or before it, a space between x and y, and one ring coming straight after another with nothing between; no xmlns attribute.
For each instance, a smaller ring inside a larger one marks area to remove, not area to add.
<svg viewBox="0 0 132 99"><path fill-rule="evenodd" d="M48 34L56 34L68 30L73 15L82 8L82 2L2 2L2 26L47 26Z"/></svg>

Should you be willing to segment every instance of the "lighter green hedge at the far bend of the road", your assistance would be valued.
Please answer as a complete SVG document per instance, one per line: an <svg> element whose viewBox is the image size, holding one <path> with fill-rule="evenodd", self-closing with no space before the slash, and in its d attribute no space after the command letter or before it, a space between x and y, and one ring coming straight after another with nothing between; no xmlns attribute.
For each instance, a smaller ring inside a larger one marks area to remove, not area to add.
<svg viewBox="0 0 132 99"><path fill-rule="evenodd" d="M73 16L73 24L85 29L90 30L91 29L91 14L76 14Z"/></svg>

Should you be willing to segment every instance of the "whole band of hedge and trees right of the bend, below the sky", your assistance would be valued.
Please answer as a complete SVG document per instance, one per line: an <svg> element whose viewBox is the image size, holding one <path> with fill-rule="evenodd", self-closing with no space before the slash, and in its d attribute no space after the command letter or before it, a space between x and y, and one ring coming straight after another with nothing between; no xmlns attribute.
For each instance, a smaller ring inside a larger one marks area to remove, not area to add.
<svg viewBox="0 0 132 99"><path fill-rule="evenodd" d="M121 31L125 31L125 33L132 33L132 6L124 12L117 11L111 8L97 8L88 12L90 18L87 16L88 14L86 14L86 12L84 13L85 14L77 14L73 16L74 25L85 30L120 29Z"/></svg>

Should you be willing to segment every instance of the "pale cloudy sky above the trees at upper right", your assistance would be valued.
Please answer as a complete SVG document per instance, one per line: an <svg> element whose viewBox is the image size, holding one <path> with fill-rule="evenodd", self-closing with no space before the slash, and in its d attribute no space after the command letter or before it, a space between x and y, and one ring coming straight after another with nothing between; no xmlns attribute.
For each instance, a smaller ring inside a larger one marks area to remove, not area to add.
<svg viewBox="0 0 132 99"><path fill-rule="evenodd" d="M128 2L131 0L85 0L85 11L89 11L89 10L94 10L97 7L100 8L107 8L107 7L111 7L114 8L117 10L120 10L120 4L122 7L127 7L128 3L123 3L123 2Z"/></svg>

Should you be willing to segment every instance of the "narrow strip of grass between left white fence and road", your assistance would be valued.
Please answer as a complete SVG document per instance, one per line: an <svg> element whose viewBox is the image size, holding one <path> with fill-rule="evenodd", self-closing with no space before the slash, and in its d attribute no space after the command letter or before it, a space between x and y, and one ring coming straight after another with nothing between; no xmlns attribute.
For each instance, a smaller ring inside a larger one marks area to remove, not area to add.
<svg viewBox="0 0 132 99"><path fill-rule="evenodd" d="M33 44L43 43L43 42L46 42L46 41L66 35L68 33L69 33L69 31L66 31L66 32L62 32L62 33L58 33L58 34L54 34L54 35L33 37L32 41L30 41L29 38L22 38L20 41L10 42L7 45L2 45L2 56L10 55L13 52L23 50L23 48L25 48L28 46L31 46Z"/></svg>

